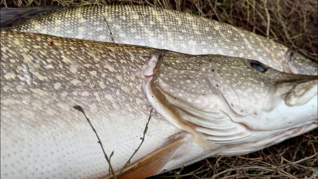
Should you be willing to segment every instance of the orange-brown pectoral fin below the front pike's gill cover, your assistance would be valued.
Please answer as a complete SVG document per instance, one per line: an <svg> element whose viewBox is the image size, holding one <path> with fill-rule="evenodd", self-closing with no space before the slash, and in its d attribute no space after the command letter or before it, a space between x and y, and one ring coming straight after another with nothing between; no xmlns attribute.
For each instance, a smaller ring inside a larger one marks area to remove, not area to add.
<svg viewBox="0 0 318 179"><path fill-rule="evenodd" d="M117 179L144 179L160 171L171 159L175 151L183 144L184 138L178 137L167 142L161 148L129 164L120 174L116 171ZM109 175L101 179L108 179ZM111 176L112 178L112 176Z"/></svg>

